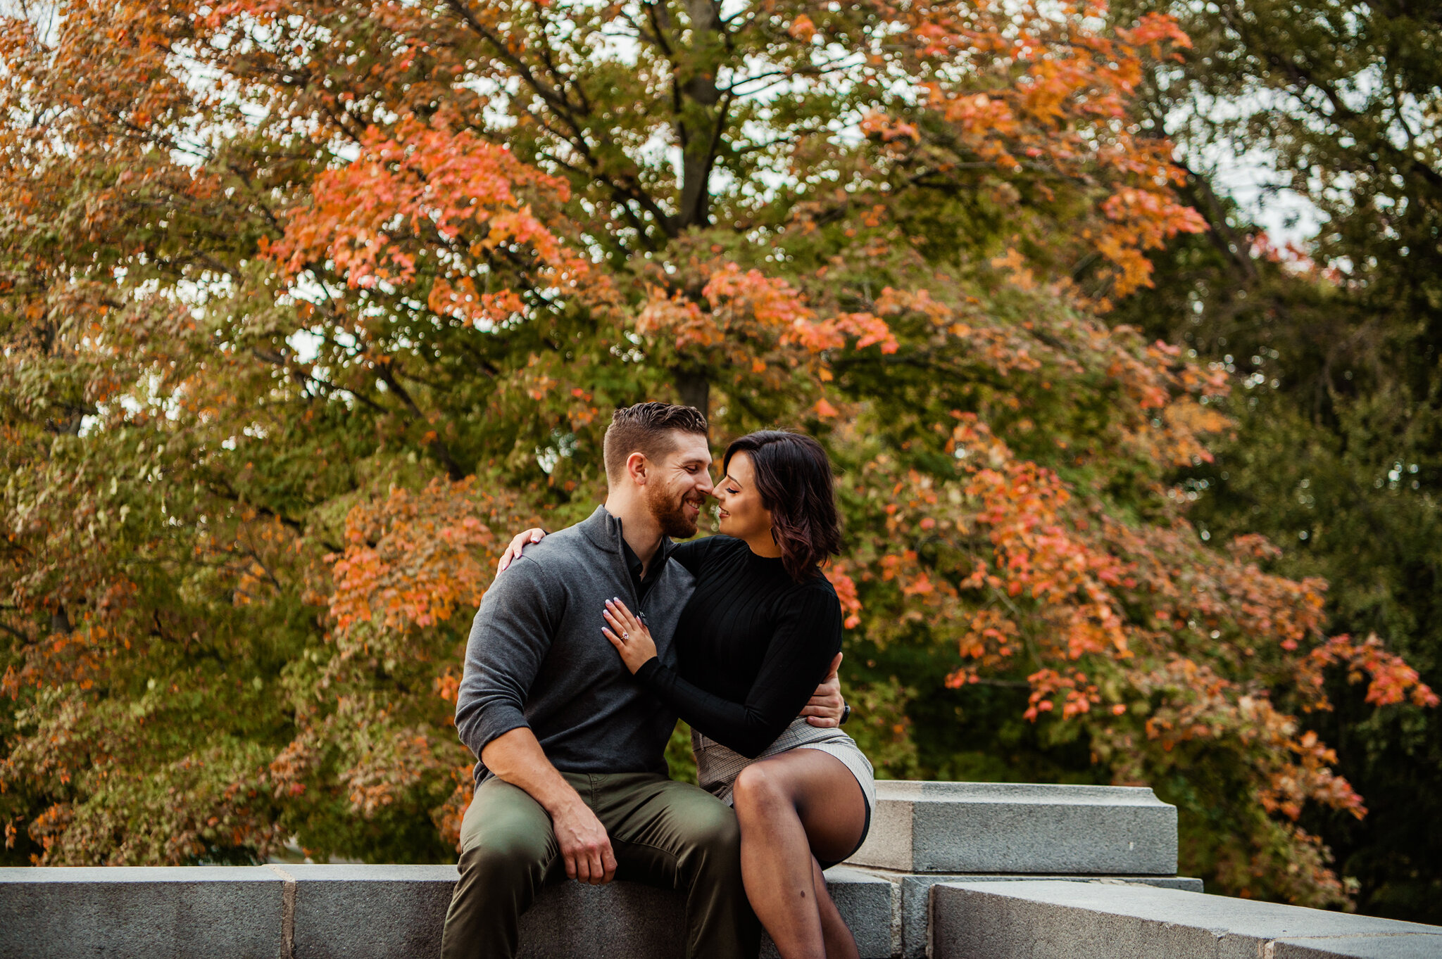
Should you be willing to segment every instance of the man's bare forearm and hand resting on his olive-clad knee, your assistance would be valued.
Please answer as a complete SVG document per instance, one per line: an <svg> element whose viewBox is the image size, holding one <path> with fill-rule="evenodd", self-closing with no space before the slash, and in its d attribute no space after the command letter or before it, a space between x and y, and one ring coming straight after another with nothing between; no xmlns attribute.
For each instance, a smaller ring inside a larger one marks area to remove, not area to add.
<svg viewBox="0 0 1442 959"><path fill-rule="evenodd" d="M616 854L606 827L545 757L535 733L523 726L502 733L480 750L480 762L500 779L531 793L551 815L570 878L591 886L611 881Z"/></svg>

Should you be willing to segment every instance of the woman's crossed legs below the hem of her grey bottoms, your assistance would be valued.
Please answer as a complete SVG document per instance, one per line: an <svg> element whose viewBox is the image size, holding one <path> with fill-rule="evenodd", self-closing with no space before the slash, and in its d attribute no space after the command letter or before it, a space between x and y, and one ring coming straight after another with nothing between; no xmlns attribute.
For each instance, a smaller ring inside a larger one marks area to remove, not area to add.
<svg viewBox="0 0 1442 959"><path fill-rule="evenodd" d="M746 894L782 959L857 959L816 863L849 855L861 839L857 778L835 756L793 749L743 769L733 802Z"/></svg>

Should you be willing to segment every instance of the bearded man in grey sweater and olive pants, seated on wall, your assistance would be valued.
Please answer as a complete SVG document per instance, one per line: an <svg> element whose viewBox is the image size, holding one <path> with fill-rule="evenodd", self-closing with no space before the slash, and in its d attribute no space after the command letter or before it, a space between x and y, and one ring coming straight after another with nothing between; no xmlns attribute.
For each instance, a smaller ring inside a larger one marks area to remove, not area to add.
<svg viewBox="0 0 1442 959"><path fill-rule="evenodd" d="M668 557L711 494L705 418L640 403L606 431L607 497L547 536L486 592L466 648L456 729L476 753L461 822L460 881L444 959L516 955L518 923L548 881L639 880L686 894L686 956L754 959L760 924L741 886L731 808L666 776L676 716L632 678L601 635L623 598L650 626L662 662L692 577ZM841 716L839 695L818 697ZM828 711L829 710L829 711Z"/></svg>

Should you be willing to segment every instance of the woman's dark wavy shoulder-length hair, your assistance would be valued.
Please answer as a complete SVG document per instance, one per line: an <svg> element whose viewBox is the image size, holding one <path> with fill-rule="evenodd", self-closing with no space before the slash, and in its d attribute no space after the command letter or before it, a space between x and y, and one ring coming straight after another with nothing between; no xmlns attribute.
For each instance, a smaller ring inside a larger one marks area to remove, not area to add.
<svg viewBox="0 0 1442 959"><path fill-rule="evenodd" d="M763 429L725 448L722 472L731 456L747 454L756 469L761 505L771 511L771 534L782 547L782 564L796 582L820 573L819 566L841 554L841 523L831 459L822 445L802 433Z"/></svg>

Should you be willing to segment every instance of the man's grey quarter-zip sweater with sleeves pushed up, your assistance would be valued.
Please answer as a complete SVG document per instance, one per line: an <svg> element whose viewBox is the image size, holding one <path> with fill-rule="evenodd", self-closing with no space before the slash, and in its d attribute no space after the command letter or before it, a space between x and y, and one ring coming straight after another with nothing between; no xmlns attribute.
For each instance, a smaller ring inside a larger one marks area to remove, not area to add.
<svg viewBox="0 0 1442 959"><path fill-rule="evenodd" d="M673 667L672 634L695 580L665 557L639 612L658 658ZM477 785L490 776L480 750L528 726L561 772L666 773L676 714L626 670L601 635L606 600L637 609L622 551L622 524L606 507L552 533L490 585L470 626L456 697L456 729L476 755Z"/></svg>

